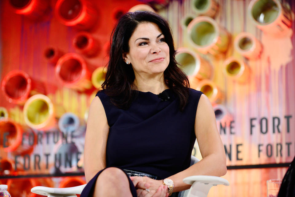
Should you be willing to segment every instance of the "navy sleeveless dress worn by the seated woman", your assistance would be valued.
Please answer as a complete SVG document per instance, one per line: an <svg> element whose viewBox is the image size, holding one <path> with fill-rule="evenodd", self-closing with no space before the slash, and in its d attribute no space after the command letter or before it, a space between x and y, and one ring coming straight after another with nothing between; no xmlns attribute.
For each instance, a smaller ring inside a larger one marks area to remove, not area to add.
<svg viewBox="0 0 295 197"><path fill-rule="evenodd" d="M159 99L157 94L138 91L127 110L114 106L104 90L96 94L103 104L110 127L106 147L107 167L165 179L190 166L196 139L196 110L203 93L190 88L188 103L180 112L177 95L171 89L164 91L170 96L167 101ZM100 172L87 183L81 197L92 196ZM130 179L129 183L132 195L137 196Z"/></svg>

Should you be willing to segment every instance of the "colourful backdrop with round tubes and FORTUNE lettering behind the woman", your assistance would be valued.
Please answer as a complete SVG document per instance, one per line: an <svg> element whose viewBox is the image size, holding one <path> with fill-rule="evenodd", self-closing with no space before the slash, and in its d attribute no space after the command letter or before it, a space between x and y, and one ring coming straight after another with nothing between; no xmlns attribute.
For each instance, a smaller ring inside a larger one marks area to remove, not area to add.
<svg viewBox="0 0 295 197"><path fill-rule="evenodd" d="M169 21L177 61L213 105L230 186L208 196L265 197L295 155L293 0L0 1L0 184L34 197L86 183L88 108L112 29L135 10Z"/></svg>

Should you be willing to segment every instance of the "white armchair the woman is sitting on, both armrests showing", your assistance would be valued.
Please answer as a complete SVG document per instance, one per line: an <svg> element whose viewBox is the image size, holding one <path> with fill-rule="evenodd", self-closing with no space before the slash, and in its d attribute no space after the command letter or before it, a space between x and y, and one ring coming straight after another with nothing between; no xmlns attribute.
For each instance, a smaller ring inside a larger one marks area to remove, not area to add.
<svg viewBox="0 0 295 197"><path fill-rule="evenodd" d="M191 165L197 163L199 159L191 156ZM216 185L230 185L230 183L223 178L217 176L189 176L183 179L184 183L190 184L191 188L179 192L178 197L206 197L212 186ZM31 192L40 195L47 195L48 197L77 197L76 194L81 194L85 185L67 188L53 188L36 186L31 189Z"/></svg>

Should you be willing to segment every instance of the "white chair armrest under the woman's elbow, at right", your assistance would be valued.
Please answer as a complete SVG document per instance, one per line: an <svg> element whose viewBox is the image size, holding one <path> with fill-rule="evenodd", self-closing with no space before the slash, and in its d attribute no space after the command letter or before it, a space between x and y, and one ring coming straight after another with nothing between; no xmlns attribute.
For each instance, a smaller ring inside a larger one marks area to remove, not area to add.
<svg viewBox="0 0 295 197"><path fill-rule="evenodd" d="M212 186L230 185L226 179L218 176L189 176L184 178L183 182L192 185L187 197L206 197Z"/></svg>

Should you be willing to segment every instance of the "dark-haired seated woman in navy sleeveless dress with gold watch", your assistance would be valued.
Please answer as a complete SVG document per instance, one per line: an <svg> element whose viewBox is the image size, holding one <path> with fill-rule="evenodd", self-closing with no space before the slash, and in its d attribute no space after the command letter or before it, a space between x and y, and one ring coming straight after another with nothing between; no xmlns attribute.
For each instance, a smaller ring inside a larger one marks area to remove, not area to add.
<svg viewBox="0 0 295 197"><path fill-rule="evenodd" d="M119 19L102 89L89 109L81 196L177 196L191 186L185 177L226 174L212 106L189 88L162 17ZM196 138L203 159L190 167Z"/></svg>

